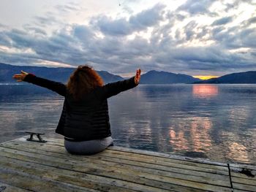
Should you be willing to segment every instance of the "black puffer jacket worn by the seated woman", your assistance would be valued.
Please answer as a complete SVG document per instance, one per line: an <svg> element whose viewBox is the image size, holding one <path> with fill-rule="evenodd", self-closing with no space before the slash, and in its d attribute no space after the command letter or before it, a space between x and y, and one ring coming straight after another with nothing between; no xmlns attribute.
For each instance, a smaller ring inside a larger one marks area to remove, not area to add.
<svg viewBox="0 0 256 192"><path fill-rule="evenodd" d="M109 137L111 131L107 99L137 86L132 77L129 80L97 87L91 93L87 93L82 101L75 101L67 92L66 85L61 82L46 80L34 74L28 74L24 81L48 88L65 97L56 133L78 141Z"/></svg>

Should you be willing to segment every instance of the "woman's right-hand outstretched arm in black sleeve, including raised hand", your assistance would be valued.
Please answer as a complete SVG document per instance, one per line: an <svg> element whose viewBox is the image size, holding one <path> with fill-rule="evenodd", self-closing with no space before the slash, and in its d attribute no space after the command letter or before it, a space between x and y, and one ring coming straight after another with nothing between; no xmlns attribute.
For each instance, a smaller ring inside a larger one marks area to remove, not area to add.
<svg viewBox="0 0 256 192"><path fill-rule="evenodd" d="M107 85L104 85L100 89L101 93L99 93L99 95L101 95L103 99L108 99L109 97L115 96L122 91L127 91L131 88L135 88L140 82L140 73L141 70L137 69L135 76L128 80L111 82Z"/></svg>

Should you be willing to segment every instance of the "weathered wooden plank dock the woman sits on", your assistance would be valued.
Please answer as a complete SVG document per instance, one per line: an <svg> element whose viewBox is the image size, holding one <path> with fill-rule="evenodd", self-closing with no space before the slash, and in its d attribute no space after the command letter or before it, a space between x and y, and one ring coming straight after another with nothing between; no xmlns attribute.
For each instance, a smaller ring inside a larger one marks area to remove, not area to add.
<svg viewBox="0 0 256 192"><path fill-rule="evenodd" d="M70 155L61 139L0 144L0 192L256 191L256 166L108 147Z"/></svg>

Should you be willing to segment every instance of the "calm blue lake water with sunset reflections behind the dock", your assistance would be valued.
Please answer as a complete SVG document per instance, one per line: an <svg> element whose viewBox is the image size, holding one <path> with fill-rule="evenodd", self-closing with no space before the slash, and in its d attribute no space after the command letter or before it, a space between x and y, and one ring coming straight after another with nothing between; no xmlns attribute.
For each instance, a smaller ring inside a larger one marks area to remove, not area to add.
<svg viewBox="0 0 256 192"><path fill-rule="evenodd" d="M0 85L0 142L54 133L64 99ZM109 99L115 145L256 164L256 85L139 85Z"/></svg>

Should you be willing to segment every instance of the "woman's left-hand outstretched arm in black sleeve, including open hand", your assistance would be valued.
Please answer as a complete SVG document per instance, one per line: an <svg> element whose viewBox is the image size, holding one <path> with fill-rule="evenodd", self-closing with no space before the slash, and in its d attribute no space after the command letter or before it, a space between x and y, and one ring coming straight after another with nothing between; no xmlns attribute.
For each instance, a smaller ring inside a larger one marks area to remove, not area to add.
<svg viewBox="0 0 256 192"><path fill-rule="evenodd" d="M20 74L14 74L12 76L17 82L31 82L34 85L39 85L43 88L48 88L51 91L55 91L56 93L59 93L61 96L66 96L66 85L64 85L61 82L55 82L51 80L46 80L41 77L36 77L34 74L30 74L27 72L20 71Z"/></svg>

